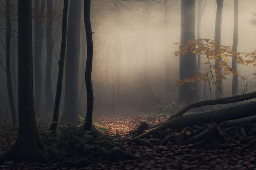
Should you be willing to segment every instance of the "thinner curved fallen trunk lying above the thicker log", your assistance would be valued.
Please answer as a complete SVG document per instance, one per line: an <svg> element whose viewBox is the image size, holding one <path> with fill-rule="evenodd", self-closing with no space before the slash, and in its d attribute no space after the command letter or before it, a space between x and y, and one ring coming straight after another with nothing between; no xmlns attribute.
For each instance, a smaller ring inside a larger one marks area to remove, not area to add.
<svg viewBox="0 0 256 170"><path fill-rule="evenodd" d="M189 111L191 108L199 108L202 106L209 106L209 105L216 105L216 104L229 104L229 103L236 103L236 102L242 102L245 100L256 98L256 92L253 93L247 93L245 95L236 95L233 97L224 97L220 99L213 99L213 100L202 100L199 102L194 102L191 104L188 104L184 106L181 110L179 110L177 113L169 117L168 120L171 120L175 117L180 117L184 115L187 111Z"/></svg>

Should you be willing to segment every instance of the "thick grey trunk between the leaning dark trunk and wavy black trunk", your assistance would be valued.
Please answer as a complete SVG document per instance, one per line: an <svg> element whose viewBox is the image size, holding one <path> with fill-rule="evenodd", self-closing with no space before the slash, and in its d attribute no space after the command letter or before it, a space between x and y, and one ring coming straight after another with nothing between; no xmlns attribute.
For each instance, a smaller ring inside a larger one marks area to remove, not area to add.
<svg viewBox="0 0 256 170"><path fill-rule="evenodd" d="M61 121L78 124L78 73L80 54L81 0L71 0L67 25L67 55L65 68L65 97Z"/></svg>

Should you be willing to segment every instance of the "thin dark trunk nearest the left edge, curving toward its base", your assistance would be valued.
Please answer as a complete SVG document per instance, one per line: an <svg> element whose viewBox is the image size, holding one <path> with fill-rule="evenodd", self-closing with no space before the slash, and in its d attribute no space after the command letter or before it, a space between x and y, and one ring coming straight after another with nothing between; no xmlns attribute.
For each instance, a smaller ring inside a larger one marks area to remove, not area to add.
<svg viewBox="0 0 256 170"><path fill-rule="evenodd" d="M6 36L5 36L5 56L6 56L6 78L7 78L7 91L9 96L9 104L11 109L11 116L13 125L18 124L16 116L16 108L13 98L12 84L11 84L11 18L10 18L10 0L6 0Z"/></svg>

